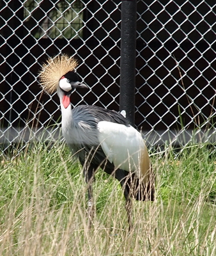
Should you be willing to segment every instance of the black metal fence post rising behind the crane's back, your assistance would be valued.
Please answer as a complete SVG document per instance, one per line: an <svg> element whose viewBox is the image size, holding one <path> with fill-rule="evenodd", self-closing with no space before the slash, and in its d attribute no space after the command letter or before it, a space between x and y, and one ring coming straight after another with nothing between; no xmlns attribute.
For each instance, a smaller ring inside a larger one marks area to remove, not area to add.
<svg viewBox="0 0 216 256"><path fill-rule="evenodd" d="M126 111L128 122L134 126L135 115L135 46L137 1L121 3L120 111Z"/></svg>

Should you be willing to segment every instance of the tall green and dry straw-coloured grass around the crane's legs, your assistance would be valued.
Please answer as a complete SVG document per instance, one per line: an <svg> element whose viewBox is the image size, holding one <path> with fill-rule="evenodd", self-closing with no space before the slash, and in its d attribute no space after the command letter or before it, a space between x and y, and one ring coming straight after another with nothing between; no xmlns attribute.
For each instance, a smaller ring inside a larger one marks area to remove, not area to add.
<svg viewBox="0 0 216 256"><path fill-rule="evenodd" d="M82 168L64 145L1 158L0 255L216 255L216 156L207 145L152 154L155 202L133 202L128 233L117 180L99 171L87 227Z"/></svg>

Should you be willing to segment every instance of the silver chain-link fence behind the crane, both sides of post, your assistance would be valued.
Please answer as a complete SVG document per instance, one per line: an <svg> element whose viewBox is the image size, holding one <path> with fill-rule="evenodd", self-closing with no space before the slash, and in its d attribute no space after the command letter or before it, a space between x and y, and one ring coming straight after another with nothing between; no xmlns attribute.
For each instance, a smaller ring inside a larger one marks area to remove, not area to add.
<svg viewBox="0 0 216 256"><path fill-rule="evenodd" d="M119 109L120 0L2 0L1 133L4 152L59 136L59 99L42 93L48 56L79 60L88 92L72 104ZM215 141L216 3L138 0L135 125L151 145ZM54 135L55 134L55 135Z"/></svg>

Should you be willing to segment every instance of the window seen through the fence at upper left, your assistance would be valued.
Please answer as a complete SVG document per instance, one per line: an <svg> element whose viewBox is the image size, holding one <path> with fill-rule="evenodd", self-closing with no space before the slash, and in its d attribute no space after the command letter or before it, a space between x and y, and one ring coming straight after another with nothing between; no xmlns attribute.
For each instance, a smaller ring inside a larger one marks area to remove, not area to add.
<svg viewBox="0 0 216 256"><path fill-rule="evenodd" d="M35 38L82 37L83 7L79 0L27 0L24 26Z"/></svg>

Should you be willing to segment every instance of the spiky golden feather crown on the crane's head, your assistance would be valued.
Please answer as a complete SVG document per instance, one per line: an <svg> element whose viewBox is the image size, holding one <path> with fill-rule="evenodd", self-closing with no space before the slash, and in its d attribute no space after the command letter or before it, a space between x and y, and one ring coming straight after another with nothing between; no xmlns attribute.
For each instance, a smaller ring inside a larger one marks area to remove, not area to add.
<svg viewBox="0 0 216 256"><path fill-rule="evenodd" d="M49 58L43 63L39 72L39 81L43 90L47 93L56 92L61 77L67 72L73 71L77 65L78 61L66 54Z"/></svg>

